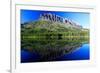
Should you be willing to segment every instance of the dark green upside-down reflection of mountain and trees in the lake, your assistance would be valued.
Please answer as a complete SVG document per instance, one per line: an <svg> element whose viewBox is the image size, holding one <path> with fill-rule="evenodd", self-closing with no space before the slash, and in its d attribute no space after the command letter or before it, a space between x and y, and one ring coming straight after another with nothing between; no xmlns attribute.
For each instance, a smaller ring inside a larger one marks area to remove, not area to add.
<svg viewBox="0 0 100 73"><path fill-rule="evenodd" d="M53 61L64 54L74 52L83 43L88 43L87 37L43 35L37 38L24 36L21 40L21 50L37 53L40 57L37 61Z"/></svg>

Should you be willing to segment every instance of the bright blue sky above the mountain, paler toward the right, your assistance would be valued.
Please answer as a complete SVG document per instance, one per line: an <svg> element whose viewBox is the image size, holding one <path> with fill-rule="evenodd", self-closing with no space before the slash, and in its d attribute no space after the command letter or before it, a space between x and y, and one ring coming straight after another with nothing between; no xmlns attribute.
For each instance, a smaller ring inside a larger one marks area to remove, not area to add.
<svg viewBox="0 0 100 73"><path fill-rule="evenodd" d="M52 13L64 18L73 20L84 28L89 28L90 14L86 12L61 12L61 11L39 11L39 10L21 10L21 23L38 20L41 13Z"/></svg>

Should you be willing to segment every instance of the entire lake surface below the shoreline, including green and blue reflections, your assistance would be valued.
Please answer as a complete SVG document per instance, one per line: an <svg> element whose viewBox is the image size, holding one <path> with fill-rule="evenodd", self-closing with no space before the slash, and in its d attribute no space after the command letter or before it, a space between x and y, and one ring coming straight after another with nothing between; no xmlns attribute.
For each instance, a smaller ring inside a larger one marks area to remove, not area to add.
<svg viewBox="0 0 100 73"><path fill-rule="evenodd" d="M26 38L26 40L21 41L21 62L89 59L89 44L84 46L85 43L88 43L87 38L83 37L42 38L38 40Z"/></svg>

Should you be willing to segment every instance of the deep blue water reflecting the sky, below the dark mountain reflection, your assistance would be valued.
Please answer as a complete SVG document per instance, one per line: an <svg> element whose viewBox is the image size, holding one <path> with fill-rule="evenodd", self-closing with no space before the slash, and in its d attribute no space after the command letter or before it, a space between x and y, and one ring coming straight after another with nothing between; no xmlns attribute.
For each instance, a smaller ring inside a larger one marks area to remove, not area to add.
<svg viewBox="0 0 100 73"><path fill-rule="evenodd" d="M45 52L44 52L45 53ZM82 44L81 47L76 48L74 51L69 53L56 54L56 56L47 56L42 57L38 52L28 51L25 49L21 50L21 62L44 62L44 61L69 61L69 60L89 60L90 59L90 45L89 44ZM51 57L51 58L48 58Z"/></svg>

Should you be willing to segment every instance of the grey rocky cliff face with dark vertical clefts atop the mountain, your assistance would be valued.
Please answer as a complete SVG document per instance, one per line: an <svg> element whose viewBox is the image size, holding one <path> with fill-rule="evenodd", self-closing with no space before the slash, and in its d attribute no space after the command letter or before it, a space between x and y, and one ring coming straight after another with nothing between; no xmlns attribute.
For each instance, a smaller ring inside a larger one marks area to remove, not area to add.
<svg viewBox="0 0 100 73"><path fill-rule="evenodd" d="M76 22L69 20L67 18L63 18L61 16L55 15L55 14L51 14L51 13L43 13L40 15L39 20L43 20L43 21L50 21L50 22L58 22L58 23L62 23L65 24L66 26L70 25L72 27L75 28L82 28L81 25L77 24Z"/></svg>

